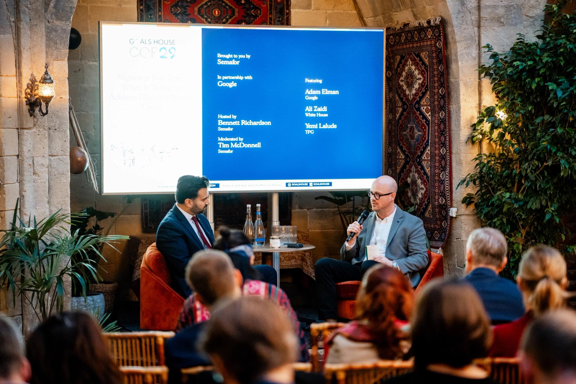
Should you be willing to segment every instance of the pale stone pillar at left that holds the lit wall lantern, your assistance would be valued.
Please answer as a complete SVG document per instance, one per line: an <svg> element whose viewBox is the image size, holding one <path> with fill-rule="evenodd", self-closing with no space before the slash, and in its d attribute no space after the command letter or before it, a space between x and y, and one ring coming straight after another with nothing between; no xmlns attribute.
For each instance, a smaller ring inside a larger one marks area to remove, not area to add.
<svg viewBox="0 0 576 384"><path fill-rule="evenodd" d="M16 5L14 5L16 4ZM18 215L44 218L70 209L68 135L68 36L76 0L0 4L0 228ZM14 8L16 6L16 8ZM28 113L24 90L44 63L56 97L47 116ZM67 303L65 303L67 305ZM37 324L31 307L0 292L0 311L17 318L24 332Z"/></svg>

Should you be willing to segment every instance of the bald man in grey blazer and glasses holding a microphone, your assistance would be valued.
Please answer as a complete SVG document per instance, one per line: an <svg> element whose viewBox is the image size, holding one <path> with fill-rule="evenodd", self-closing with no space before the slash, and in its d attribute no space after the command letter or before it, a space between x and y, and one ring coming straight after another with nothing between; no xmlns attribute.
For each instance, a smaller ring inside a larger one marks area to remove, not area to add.
<svg viewBox="0 0 576 384"><path fill-rule="evenodd" d="M354 222L347 233L354 233L340 249L340 258L324 257L316 262L316 295L321 320L336 320L336 283L361 280L378 263L403 272L412 287L420 282L421 269L428 264L426 232L422 220L401 210L395 203L398 186L390 176L374 180L368 192L373 212L363 225ZM366 245L377 246L378 254L366 260Z"/></svg>

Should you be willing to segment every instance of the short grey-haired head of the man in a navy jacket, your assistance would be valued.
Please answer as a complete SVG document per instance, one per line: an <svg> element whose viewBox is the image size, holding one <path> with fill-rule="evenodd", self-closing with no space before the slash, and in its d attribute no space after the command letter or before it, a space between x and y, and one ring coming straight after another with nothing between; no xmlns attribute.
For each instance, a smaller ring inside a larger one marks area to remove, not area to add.
<svg viewBox="0 0 576 384"><path fill-rule="evenodd" d="M500 272L506 267L507 252L508 244L501 231L490 227L473 230L466 242L467 271L486 267Z"/></svg>

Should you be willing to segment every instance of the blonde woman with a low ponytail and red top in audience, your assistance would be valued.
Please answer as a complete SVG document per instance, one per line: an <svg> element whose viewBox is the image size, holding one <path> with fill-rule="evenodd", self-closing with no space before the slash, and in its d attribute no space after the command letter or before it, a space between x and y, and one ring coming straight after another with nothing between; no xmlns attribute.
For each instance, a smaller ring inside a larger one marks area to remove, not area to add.
<svg viewBox="0 0 576 384"><path fill-rule="evenodd" d="M516 281L524 296L526 314L509 324L494 327L490 356L516 356L524 329L532 320L549 310L566 306L566 261L558 250L545 245L528 249L522 255Z"/></svg>

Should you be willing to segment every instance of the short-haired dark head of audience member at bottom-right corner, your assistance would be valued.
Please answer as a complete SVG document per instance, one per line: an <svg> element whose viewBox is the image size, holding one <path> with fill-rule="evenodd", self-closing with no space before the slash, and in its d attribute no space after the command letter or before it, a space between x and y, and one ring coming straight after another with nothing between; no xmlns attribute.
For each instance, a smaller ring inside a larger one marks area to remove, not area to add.
<svg viewBox="0 0 576 384"><path fill-rule="evenodd" d="M548 377L548 382L576 367L576 313L555 310L540 315L522 336L520 350Z"/></svg>

